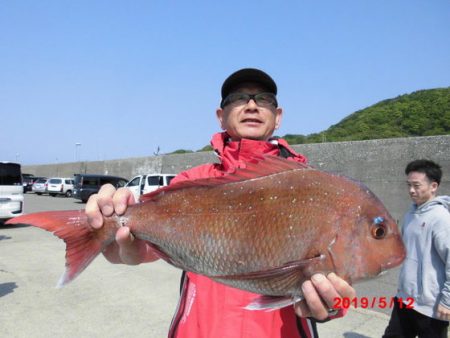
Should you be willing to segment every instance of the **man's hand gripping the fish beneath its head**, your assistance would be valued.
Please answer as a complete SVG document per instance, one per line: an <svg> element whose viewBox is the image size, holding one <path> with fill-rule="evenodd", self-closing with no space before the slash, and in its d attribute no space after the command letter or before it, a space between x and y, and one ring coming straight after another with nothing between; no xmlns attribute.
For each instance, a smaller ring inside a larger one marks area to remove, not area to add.
<svg viewBox="0 0 450 338"><path fill-rule="evenodd" d="M328 310L336 304L336 298L353 299L356 296L355 289L335 273L326 277L323 274L313 275L311 280L303 283L302 292L305 299L295 304L296 314L318 320L328 318Z"/></svg>

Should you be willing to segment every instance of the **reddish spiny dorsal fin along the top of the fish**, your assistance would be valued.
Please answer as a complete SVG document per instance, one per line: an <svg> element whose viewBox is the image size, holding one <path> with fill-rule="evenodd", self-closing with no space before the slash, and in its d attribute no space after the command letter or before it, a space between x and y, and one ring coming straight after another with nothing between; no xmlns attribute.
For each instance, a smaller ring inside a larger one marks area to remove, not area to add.
<svg viewBox="0 0 450 338"><path fill-rule="evenodd" d="M265 155L255 156L251 160L245 162L245 168L237 168L233 172L227 173L223 176L200 178L195 180L187 180L171 184L170 186L160 188L156 191L142 195L141 202L154 200L157 196L168 191L175 191L182 188L198 187L198 186L216 186L226 183L233 183L239 181L250 180L258 177L273 175L276 173L311 169L308 165L300 162L286 160L282 157Z"/></svg>

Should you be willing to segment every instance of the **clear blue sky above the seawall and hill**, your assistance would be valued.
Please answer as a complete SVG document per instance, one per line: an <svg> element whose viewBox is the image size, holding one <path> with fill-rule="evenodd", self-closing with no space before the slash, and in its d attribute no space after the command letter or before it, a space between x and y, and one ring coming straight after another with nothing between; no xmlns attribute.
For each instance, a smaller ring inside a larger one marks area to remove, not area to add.
<svg viewBox="0 0 450 338"><path fill-rule="evenodd" d="M0 46L0 160L151 156L209 144L243 67L276 80L278 135L450 86L450 2L3 0Z"/></svg>

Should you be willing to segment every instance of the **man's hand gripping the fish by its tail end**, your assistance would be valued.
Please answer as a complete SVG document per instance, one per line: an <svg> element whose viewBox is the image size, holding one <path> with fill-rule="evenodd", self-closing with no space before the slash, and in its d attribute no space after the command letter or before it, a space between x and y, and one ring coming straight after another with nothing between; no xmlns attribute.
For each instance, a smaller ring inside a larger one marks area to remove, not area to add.
<svg viewBox="0 0 450 338"><path fill-rule="evenodd" d="M111 184L105 184L86 204L88 223L92 228L100 229L103 226L103 216L123 215L128 206L134 203L134 196L130 190L126 188L116 190ZM116 241L103 251L103 255L111 263L129 265L158 259L151 247L145 241L135 238L128 227L117 230Z"/></svg>

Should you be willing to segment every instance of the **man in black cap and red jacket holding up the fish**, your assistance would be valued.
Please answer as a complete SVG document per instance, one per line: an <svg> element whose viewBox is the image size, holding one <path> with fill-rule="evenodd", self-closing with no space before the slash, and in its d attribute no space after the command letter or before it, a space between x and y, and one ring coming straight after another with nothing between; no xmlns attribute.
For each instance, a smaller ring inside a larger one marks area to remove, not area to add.
<svg viewBox="0 0 450 338"><path fill-rule="evenodd" d="M172 184L186 180L223 176L245 167L253 156L275 155L306 163L306 158L282 139L272 138L280 126L282 109L276 100L273 79L258 69L241 69L222 86L222 101L217 118L224 130L213 136L212 145L220 164L203 165L179 174ZM90 225L99 229L103 215L123 214L134 204L127 189L102 187L86 205ZM105 251L112 263L140 264L159 257L148 242L133 237L128 227L117 230L116 241ZM301 290L304 299L273 311L251 311L245 305L255 294L193 272L183 274L182 294L170 329L170 337L317 337L315 321L326 320L336 297L352 299L354 289L336 274L314 274ZM336 314L336 311L334 311ZM341 314L338 314L338 316Z"/></svg>

